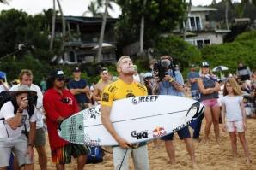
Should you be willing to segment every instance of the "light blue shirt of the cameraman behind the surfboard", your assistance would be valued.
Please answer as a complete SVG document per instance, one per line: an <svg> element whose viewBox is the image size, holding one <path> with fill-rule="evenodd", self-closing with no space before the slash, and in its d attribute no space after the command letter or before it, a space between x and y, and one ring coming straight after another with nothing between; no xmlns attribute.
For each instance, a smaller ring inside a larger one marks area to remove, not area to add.
<svg viewBox="0 0 256 170"><path fill-rule="evenodd" d="M170 70L168 73L174 80L179 83L180 85L184 85L183 77L180 73L180 71L175 71L175 77L173 75L173 70ZM153 82L153 88L155 88L155 79ZM170 95L170 96L178 96L182 97L182 93L175 89L174 85L171 84L171 82L168 81L161 81L159 83L159 95Z"/></svg>

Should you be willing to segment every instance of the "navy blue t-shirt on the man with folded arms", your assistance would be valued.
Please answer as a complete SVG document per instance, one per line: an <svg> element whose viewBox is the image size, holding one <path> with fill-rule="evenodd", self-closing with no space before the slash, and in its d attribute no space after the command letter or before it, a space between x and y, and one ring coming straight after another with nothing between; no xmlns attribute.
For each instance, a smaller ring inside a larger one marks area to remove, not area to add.
<svg viewBox="0 0 256 170"><path fill-rule="evenodd" d="M86 79L80 79L76 81L75 79L71 79L69 82L70 89L84 89L88 86L88 82ZM79 95L74 95L77 103L88 103L88 98L86 93L80 93Z"/></svg>

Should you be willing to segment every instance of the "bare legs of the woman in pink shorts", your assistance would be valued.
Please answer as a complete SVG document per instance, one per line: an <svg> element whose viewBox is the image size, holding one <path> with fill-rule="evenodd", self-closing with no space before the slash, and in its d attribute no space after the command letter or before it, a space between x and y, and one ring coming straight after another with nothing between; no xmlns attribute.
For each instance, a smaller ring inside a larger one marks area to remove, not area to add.
<svg viewBox="0 0 256 170"><path fill-rule="evenodd" d="M206 120L206 125L204 128L204 144L209 143L209 134L210 134L210 126L213 123L214 132L216 137L216 142L220 143L220 132L219 132L219 117L220 117L220 107L210 108L206 106L204 109L204 117Z"/></svg>

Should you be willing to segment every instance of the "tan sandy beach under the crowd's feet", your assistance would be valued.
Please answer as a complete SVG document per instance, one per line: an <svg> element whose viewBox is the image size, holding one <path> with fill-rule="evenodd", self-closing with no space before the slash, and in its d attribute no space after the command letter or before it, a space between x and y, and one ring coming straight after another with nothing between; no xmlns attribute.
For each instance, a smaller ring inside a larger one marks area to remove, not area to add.
<svg viewBox="0 0 256 170"><path fill-rule="evenodd" d="M256 129L256 120L247 119L247 144L249 147L250 158L252 163L250 165L246 165L246 158L244 151L242 149L239 138L237 138L237 148L238 148L238 157L233 159L230 138L228 132L222 132L222 125L220 124L220 135L221 135L221 144L216 144L215 135L213 132L213 126L211 126L210 132L210 144L204 144L204 126L205 119L203 120L202 129L200 132L200 139L193 139L193 144L196 151L196 161L198 163L199 169L204 170L246 170L246 169L256 169L256 161L254 158L256 157L256 146L254 146L256 140L256 134L254 129ZM255 127L255 128L254 128ZM190 128L190 132L193 130ZM46 134L46 138L47 138ZM52 163L51 160L51 151L47 138L46 144L46 152L48 155L48 169L55 169L55 164ZM179 136L174 134L174 148L175 148L175 157L176 157L176 165L171 166L170 161L168 159L168 155L165 150L164 142L158 139L158 144L160 146L159 149L155 149L155 145L153 141L148 142L149 148L149 164L150 169L152 170L166 170L166 169L192 169L190 157L187 154L186 146L183 140L180 140ZM34 160L34 169L40 169L38 163L38 156L35 151L35 160ZM130 155L130 168L133 169L133 164ZM72 162L69 165L66 165L67 170L76 170L76 159L72 159ZM113 170L113 157L112 155L104 156L104 161L98 164L87 164L84 169L88 170Z"/></svg>

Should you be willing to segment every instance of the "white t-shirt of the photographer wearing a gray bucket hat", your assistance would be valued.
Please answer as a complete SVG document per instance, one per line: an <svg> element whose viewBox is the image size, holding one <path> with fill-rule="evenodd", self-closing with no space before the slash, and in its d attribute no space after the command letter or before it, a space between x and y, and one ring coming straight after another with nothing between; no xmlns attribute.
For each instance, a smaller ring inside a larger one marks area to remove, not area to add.
<svg viewBox="0 0 256 170"><path fill-rule="evenodd" d="M24 126L25 121L35 122L37 119L36 114L33 114L29 119L29 115L27 113L27 108L26 108L23 110L20 126L18 126L16 130L13 130L10 128L6 120L8 120L9 118L15 117L14 109L15 109L14 106L9 101L7 103L4 103L0 110L0 118L5 119L5 120L0 120L0 138L9 138L9 139L19 138L21 136L22 127Z"/></svg>

